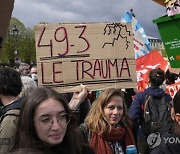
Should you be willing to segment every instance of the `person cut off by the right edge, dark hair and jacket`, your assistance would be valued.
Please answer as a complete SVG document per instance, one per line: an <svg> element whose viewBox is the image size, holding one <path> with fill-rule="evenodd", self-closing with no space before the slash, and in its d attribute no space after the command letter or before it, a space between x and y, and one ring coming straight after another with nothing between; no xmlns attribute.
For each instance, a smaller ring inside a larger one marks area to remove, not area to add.
<svg viewBox="0 0 180 154"><path fill-rule="evenodd" d="M180 90L176 93L173 99L173 107L171 109L171 113L171 117L174 121L174 126L171 130L169 130L168 132L163 134L163 136L161 136L160 145L154 148L151 151L151 154L180 153Z"/></svg>

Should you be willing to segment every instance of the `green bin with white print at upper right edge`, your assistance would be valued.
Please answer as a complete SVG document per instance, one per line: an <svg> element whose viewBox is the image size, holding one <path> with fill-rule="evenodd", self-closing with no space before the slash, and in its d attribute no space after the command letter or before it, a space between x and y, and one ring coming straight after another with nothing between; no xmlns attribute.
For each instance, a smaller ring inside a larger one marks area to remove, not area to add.
<svg viewBox="0 0 180 154"><path fill-rule="evenodd" d="M153 20L158 26L172 68L180 68L180 14Z"/></svg>

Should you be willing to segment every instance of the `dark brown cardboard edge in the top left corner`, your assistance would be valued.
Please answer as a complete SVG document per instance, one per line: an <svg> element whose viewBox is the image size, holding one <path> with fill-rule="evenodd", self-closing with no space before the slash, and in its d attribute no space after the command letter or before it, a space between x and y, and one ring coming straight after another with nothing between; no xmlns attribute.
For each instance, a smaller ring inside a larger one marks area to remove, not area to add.
<svg viewBox="0 0 180 154"><path fill-rule="evenodd" d="M11 14L14 8L14 0L0 0L0 53L4 37L6 36Z"/></svg>

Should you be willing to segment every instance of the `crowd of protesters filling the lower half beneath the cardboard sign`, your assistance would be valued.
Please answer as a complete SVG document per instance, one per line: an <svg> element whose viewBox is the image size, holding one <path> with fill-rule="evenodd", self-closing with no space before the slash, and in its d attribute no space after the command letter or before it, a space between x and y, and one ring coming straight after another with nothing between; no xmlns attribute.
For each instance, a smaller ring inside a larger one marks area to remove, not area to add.
<svg viewBox="0 0 180 154"><path fill-rule="evenodd" d="M38 86L37 66L2 67L0 154L128 154L132 145L131 154L179 154L180 90L171 98L161 87L166 78L163 70L153 69L143 92L116 88L89 92L80 85L79 92L58 93ZM170 113L169 121L157 127L161 142L152 139L153 146L149 136L156 132L149 132L152 125L145 123L145 115L151 114L151 105L145 110L150 96L160 100L155 106L164 97L163 110ZM177 142L168 142L170 137Z"/></svg>

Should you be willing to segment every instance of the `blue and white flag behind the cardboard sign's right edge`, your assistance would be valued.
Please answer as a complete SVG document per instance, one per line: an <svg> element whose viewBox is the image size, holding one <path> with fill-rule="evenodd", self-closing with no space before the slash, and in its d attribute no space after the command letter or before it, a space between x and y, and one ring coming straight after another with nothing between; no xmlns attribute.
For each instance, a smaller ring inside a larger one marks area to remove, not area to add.
<svg viewBox="0 0 180 154"><path fill-rule="evenodd" d="M150 42L140 23L129 12L123 15L120 22L132 24L135 59L148 54L151 51Z"/></svg>

